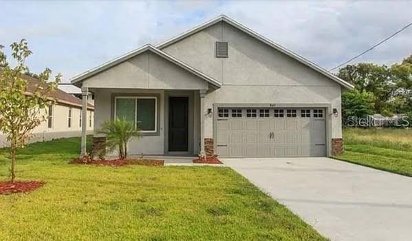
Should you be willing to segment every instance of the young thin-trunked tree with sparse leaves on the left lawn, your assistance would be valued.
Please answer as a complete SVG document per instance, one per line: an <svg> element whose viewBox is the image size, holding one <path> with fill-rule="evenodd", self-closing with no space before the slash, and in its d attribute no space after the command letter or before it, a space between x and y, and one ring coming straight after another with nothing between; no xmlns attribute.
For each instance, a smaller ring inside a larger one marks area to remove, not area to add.
<svg viewBox="0 0 412 241"><path fill-rule="evenodd" d="M36 81L24 78L28 71L25 60L32 54L28 42L22 39L10 45L16 62L11 67L3 46L0 46L0 132L10 143L11 181L16 178L17 150L26 145L32 131L47 118L46 108L54 103L52 92L56 90L61 74L47 82L52 71L46 68Z"/></svg>

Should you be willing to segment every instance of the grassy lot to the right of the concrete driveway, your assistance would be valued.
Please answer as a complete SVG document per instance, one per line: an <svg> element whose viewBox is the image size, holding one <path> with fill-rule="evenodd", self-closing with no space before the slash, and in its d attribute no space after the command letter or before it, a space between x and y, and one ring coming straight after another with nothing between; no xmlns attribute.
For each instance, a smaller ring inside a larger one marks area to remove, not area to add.
<svg viewBox="0 0 412 241"><path fill-rule="evenodd" d="M344 129L340 160L412 176L412 129Z"/></svg>

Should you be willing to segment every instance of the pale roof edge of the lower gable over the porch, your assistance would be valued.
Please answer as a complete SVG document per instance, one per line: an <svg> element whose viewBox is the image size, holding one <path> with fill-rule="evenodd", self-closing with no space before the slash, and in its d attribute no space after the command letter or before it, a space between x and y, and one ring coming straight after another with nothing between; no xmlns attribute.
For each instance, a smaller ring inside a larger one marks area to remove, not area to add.
<svg viewBox="0 0 412 241"><path fill-rule="evenodd" d="M104 70L109 69L110 67L113 67L114 65L118 65L119 63L122 63L124 61L127 61L128 59L133 58L134 56L138 56L139 54L142 54L143 52L150 51L154 54L157 54L158 56L162 57L163 59L166 59L167 61L170 61L171 63L174 63L175 65L178 65L179 67L182 67L184 70L187 70L188 72L191 72L192 74L195 74L195 76L204 79L211 85L215 87L221 87L221 83L217 81L215 78L212 78L199 70L196 70L194 67L191 67L187 65L186 63L183 63L182 61L179 61L175 59L173 56L166 54L162 50L159 50L155 48L153 45L143 45L141 48L138 48L137 50L133 50L131 52L128 52L127 54L124 54L117 59L113 59L109 62L103 63L102 65L99 65L98 67L94 67L91 70L87 70L86 72L83 72L82 74L79 74L77 76L74 76L73 78L70 79L72 84L78 85L81 81L85 80L85 78L88 78L90 76L93 76L95 74L98 74L99 72L102 72Z"/></svg>

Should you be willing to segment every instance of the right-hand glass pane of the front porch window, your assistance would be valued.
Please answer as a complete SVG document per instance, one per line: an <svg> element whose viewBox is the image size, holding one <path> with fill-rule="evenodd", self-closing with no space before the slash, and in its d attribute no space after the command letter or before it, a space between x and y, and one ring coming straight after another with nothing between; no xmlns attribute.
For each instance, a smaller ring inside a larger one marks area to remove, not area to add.
<svg viewBox="0 0 412 241"><path fill-rule="evenodd" d="M137 120L142 131L155 131L156 125L156 99L138 98Z"/></svg>

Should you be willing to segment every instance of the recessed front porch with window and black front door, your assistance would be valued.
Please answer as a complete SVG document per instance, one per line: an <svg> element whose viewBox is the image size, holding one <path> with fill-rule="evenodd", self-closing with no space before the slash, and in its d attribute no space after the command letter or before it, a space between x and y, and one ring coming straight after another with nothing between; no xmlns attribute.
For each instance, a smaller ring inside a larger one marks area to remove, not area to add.
<svg viewBox="0 0 412 241"><path fill-rule="evenodd" d="M204 155L204 109L206 90L144 90L86 88L95 96L93 151L105 151L105 136L98 133L102 123L122 116L141 129L142 138L129 142L130 156ZM87 98L87 96L85 96ZM87 121L83 118L82 121ZM87 126L87 125L83 125ZM82 137L85 132L82 132ZM82 138L82 154L86 152ZM113 157L116 153L105 152Z"/></svg>

